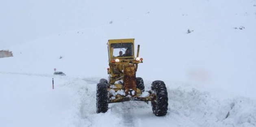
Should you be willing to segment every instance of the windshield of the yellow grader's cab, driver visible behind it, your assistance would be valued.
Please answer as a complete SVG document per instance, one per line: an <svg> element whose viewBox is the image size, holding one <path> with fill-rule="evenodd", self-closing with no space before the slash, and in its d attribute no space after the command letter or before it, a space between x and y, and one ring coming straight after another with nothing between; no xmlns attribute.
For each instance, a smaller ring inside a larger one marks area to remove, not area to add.
<svg viewBox="0 0 256 127"><path fill-rule="evenodd" d="M113 57L133 56L132 43L115 43L113 47Z"/></svg>

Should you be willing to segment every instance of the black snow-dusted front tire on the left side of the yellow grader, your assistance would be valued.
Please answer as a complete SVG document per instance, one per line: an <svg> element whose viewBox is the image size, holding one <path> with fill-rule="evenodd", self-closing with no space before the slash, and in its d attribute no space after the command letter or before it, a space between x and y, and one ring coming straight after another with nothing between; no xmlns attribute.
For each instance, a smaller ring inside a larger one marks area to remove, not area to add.
<svg viewBox="0 0 256 127"><path fill-rule="evenodd" d="M97 93L96 93L96 112L105 113L108 110L108 82L107 80L100 80L100 83L97 84Z"/></svg>

